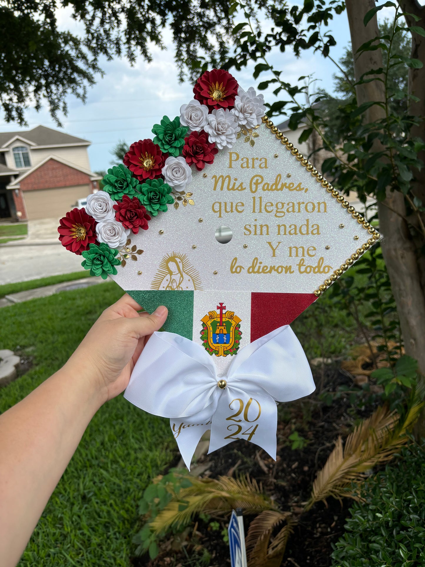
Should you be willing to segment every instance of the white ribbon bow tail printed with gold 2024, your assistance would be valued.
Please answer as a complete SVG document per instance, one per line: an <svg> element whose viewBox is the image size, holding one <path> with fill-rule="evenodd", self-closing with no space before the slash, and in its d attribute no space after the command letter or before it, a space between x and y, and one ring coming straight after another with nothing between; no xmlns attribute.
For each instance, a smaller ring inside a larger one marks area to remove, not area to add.
<svg viewBox="0 0 425 567"><path fill-rule="evenodd" d="M245 439L276 459L277 420L276 402L265 390L253 384L227 386L213 416L208 452Z"/></svg>

